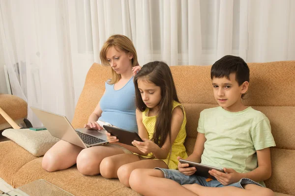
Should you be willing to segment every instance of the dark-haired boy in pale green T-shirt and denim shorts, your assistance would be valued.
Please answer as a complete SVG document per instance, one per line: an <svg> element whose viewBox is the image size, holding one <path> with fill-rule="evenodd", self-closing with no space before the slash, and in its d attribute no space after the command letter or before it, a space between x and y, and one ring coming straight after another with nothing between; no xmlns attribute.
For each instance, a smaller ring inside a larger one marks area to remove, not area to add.
<svg viewBox="0 0 295 196"><path fill-rule="evenodd" d="M269 121L241 101L249 85L247 64L240 57L224 56L213 64L211 80L219 107L201 112L194 151L186 160L226 173L211 170L217 179L211 180L193 175L196 168L180 163L179 171L135 170L129 180L132 189L145 196L273 196L263 182L271 175L269 147L275 146Z"/></svg>

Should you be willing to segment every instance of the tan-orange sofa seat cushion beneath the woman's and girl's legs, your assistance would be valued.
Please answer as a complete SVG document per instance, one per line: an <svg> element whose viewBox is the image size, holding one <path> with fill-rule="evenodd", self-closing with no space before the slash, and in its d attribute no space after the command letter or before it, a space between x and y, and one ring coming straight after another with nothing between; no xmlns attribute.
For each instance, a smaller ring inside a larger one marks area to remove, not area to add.
<svg viewBox="0 0 295 196"><path fill-rule="evenodd" d="M24 165L14 175L13 187L44 179L75 196L140 196L121 184L118 179L106 179L101 175L85 176L76 166L58 172L46 172L41 163L42 157Z"/></svg>

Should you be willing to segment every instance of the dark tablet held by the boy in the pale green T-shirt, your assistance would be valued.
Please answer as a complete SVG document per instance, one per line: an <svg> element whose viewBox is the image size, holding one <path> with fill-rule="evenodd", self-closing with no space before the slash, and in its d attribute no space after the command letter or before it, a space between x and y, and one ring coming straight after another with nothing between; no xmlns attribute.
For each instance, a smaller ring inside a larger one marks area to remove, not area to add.
<svg viewBox="0 0 295 196"><path fill-rule="evenodd" d="M195 167L197 169L197 171L195 172L196 175L207 177L207 178L210 178L210 179L213 179L213 180L216 180L216 178L209 174L210 170L214 169L214 170L217 170L219 172L225 173L223 171L223 169L221 169L221 168L216 168L216 167L208 166L208 165L201 164L201 163L195 163L195 162L187 161L187 160L183 160L183 159L179 159L179 162L180 163L188 163L189 167Z"/></svg>

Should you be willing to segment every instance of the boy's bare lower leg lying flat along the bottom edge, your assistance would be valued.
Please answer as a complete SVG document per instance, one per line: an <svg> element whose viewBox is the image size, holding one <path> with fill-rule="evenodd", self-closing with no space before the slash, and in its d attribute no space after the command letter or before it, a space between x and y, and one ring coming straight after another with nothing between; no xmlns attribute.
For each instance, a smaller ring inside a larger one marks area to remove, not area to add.
<svg viewBox="0 0 295 196"><path fill-rule="evenodd" d="M274 193L270 189L254 184L244 185L244 189L231 186L203 187L198 184L187 184L183 186L199 196L274 196Z"/></svg>

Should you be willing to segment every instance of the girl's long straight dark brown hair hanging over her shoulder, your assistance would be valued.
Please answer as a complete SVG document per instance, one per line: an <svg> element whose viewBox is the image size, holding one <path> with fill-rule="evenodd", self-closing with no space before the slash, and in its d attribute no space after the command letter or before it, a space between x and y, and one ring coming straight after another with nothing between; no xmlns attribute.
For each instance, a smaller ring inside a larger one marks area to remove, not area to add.
<svg viewBox="0 0 295 196"><path fill-rule="evenodd" d="M179 102L172 73L166 63L154 61L144 65L134 76L136 106L141 112L143 112L147 108L147 105L144 103L138 89L137 82L139 79L154 83L161 88L161 101L158 105L159 112L153 134L153 142L159 147L162 147L167 136L169 136L171 141L173 101L175 100Z"/></svg>

